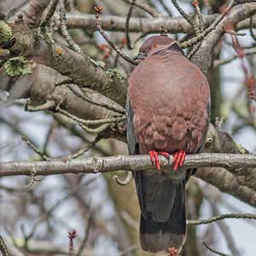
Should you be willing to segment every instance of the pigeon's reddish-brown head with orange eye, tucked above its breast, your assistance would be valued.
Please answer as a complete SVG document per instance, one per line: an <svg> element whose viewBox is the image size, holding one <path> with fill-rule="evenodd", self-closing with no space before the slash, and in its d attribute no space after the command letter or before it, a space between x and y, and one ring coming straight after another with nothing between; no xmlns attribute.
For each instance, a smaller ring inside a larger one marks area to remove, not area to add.
<svg viewBox="0 0 256 256"><path fill-rule="evenodd" d="M134 60L143 60L148 55L160 52L162 50L174 50L183 54L183 49L179 47L177 41L166 36L152 36L148 38L139 49L138 55Z"/></svg>

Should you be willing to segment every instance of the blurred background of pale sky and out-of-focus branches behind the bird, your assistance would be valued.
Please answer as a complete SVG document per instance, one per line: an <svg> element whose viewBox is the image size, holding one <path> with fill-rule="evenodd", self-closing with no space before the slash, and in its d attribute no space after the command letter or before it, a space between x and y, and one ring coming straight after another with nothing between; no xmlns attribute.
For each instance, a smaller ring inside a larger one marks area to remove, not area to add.
<svg viewBox="0 0 256 256"><path fill-rule="evenodd" d="M1 0L0 12L8 14L19 9L26 1ZM68 1L67 1L68 2ZM69 12L94 14L94 6L102 5L103 15L126 16L130 4L121 0L76 0L67 3ZM129 1L128 1L129 2ZM217 13L225 1L201 1L202 12L207 14L206 2ZM161 15L179 15L169 0L140 1ZM193 12L190 1L178 1L186 12ZM133 9L132 16L149 17L142 9ZM248 30L239 38L242 48L253 49L255 41ZM104 61L108 67L118 67L124 76L131 67L108 48L98 32L70 30L75 42L96 61ZM256 33L256 31L255 31ZM115 44L129 55L135 55L144 38L134 49L125 48L124 32L108 32ZM131 33L131 42L138 34ZM145 35L147 37L147 35ZM183 38L183 34L172 37ZM65 44L55 28L55 40ZM256 148L255 105L247 99L241 61L219 65L218 60L236 55L226 35L216 46L214 60L208 75L212 87L212 123L223 119L222 129L230 132L236 142L251 152ZM256 50L254 50L256 53ZM255 57L247 55L249 72L255 75ZM0 79L1 83L1 79ZM1 87L1 86L0 86ZM0 159L40 160L40 156L28 147L22 136L51 157L73 154L94 138L60 113L24 110L26 100L10 100L6 91L0 93ZM79 158L91 155L127 154L126 144L115 139L102 139ZM126 172L116 173L120 179ZM150 255L144 253L138 243L139 207L133 180L120 185L113 172L106 174L55 175L41 177L29 188L30 178L0 178L0 234L5 238L12 255L68 255L68 232L75 230L74 251L77 256ZM188 218L210 218L226 212L255 212L253 207L225 195L192 177L187 189ZM254 256L256 222L253 220L224 220L202 226L188 226L188 236L181 255L212 255L202 241L218 251L230 255ZM160 255L160 253L158 254Z"/></svg>

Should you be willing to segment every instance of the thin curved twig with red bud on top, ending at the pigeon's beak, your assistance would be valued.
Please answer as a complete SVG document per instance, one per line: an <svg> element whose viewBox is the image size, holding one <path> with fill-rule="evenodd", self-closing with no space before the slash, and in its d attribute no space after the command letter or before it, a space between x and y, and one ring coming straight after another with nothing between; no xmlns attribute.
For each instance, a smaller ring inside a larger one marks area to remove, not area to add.
<svg viewBox="0 0 256 256"><path fill-rule="evenodd" d="M132 65L137 65L137 61L133 61L129 56L125 55L115 44L113 44L113 42L110 40L110 38L108 37L108 34L106 32L103 31L102 26L100 24L100 15L102 14L102 7L101 6L96 6L95 7L96 10L96 29L98 32L100 32L102 34L102 37L108 42L108 44L123 58L125 59L125 61L128 61L129 63L131 63Z"/></svg>

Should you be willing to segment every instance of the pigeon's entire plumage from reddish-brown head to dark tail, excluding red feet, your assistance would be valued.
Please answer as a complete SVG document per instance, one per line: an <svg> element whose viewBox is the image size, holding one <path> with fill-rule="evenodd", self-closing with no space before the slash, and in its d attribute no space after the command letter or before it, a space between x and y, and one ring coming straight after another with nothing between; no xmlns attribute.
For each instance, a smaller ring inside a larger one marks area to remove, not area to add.
<svg viewBox="0 0 256 256"><path fill-rule="evenodd" d="M148 38L140 48L140 56L142 61L129 78L129 153L199 152L209 119L206 77L171 38ZM186 231L185 183L190 175L191 170L183 168L161 175L156 171L134 173L142 211L140 240L144 250L181 250Z"/></svg>

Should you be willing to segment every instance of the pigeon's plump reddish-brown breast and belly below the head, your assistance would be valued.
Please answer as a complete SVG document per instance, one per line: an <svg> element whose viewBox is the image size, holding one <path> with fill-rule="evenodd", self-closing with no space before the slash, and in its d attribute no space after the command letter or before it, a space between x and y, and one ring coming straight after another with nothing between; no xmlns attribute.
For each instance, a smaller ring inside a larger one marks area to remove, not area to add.
<svg viewBox="0 0 256 256"><path fill-rule="evenodd" d="M210 91L193 63L182 55L149 56L131 74L128 93L141 153L198 151L206 132Z"/></svg>

